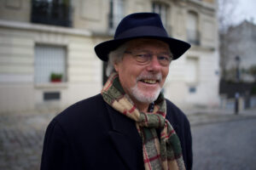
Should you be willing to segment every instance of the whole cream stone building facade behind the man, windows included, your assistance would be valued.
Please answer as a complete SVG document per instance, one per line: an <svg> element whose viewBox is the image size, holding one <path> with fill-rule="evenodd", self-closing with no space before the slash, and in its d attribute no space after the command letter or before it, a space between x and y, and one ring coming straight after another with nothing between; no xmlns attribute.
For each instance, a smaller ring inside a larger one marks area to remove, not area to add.
<svg viewBox="0 0 256 170"><path fill-rule="evenodd" d="M172 62L166 98L181 108L218 105L216 10L215 0L1 0L0 112L63 109L100 93L94 47L135 12L159 13L170 36L192 44Z"/></svg>

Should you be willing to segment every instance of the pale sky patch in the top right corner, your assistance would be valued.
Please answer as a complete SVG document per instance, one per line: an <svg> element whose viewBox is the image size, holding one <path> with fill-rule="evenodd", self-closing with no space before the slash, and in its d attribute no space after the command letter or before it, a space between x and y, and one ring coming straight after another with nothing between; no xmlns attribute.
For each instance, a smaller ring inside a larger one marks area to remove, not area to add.
<svg viewBox="0 0 256 170"><path fill-rule="evenodd" d="M237 0L236 16L237 24L245 19L253 19L253 23L256 24L256 0Z"/></svg>

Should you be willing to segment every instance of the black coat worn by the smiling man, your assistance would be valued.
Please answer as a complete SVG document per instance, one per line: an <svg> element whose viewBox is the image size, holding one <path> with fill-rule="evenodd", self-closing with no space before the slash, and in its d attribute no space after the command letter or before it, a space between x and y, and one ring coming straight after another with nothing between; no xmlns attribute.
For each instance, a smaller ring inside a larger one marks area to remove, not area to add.
<svg viewBox="0 0 256 170"><path fill-rule="evenodd" d="M169 100L166 103L166 118L181 141L185 166L191 169L188 119ZM113 110L101 94L70 106L55 116L45 133L41 170L51 169L144 169L135 122Z"/></svg>

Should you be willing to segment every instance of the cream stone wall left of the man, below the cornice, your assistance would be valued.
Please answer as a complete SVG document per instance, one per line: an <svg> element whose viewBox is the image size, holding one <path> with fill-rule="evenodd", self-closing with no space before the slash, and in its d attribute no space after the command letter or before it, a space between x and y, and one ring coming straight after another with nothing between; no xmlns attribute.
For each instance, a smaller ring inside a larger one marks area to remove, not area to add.
<svg viewBox="0 0 256 170"><path fill-rule="evenodd" d="M1 112L65 108L100 93L102 63L96 58L89 31L9 21L2 21L0 25ZM36 44L67 47L68 82L34 82ZM61 99L44 101L45 92L60 92Z"/></svg>

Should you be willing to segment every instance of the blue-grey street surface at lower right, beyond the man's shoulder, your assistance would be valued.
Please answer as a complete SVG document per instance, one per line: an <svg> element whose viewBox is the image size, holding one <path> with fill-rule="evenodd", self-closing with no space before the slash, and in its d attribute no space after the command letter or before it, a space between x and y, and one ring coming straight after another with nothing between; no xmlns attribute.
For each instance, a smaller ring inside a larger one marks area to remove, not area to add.
<svg viewBox="0 0 256 170"><path fill-rule="evenodd" d="M192 127L195 170L255 170L256 118Z"/></svg>

